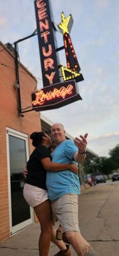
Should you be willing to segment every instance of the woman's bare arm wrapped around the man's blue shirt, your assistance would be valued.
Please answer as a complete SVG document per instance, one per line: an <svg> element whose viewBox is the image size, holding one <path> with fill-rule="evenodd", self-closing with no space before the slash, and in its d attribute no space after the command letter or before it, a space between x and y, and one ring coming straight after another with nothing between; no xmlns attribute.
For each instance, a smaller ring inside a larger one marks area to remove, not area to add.
<svg viewBox="0 0 119 256"><path fill-rule="evenodd" d="M78 174L78 168L75 166L75 164L59 164L59 163L52 163L49 157L45 157L41 159L41 164L43 164L43 167L48 172L60 172L64 170L70 170L71 172L74 172Z"/></svg>

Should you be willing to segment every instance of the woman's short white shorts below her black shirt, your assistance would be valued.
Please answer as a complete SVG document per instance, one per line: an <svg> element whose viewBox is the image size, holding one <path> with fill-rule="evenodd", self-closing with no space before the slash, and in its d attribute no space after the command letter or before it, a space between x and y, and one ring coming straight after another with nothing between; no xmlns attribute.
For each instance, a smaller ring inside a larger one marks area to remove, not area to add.
<svg viewBox="0 0 119 256"><path fill-rule="evenodd" d="M27 203L32 208L49 199L48 192L45 189L38 188L27 183L24 184L23 195Z"/></svg>

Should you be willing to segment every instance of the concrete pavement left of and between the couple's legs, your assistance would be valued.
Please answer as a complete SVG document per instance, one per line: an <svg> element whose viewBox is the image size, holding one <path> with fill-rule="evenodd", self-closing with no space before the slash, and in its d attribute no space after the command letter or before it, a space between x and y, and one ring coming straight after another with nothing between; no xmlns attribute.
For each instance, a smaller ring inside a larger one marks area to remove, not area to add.
<svg viewBox="0 0 119 256"><path fill-rule="evenodd" d="M38 252L38 239L39 239L40 226L39 224L31 224L29 227L24 228L15 236L10 237L0 244L1 256L36 256ZM59 252L57 246L53 243L50 246L49 256L55 255ZM76 253L71 249L72 256Z"/></svg>

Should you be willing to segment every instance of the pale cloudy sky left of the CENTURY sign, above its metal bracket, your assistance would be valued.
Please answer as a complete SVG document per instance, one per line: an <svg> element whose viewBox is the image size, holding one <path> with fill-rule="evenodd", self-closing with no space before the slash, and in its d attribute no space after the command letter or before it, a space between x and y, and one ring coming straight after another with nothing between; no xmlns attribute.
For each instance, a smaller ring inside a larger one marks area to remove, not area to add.
<svg viewBox="0 0 119 256"><path fill-rule="evenodd" d="M3 22L1 41L4 44L13 43L36 29L34 1L10 0L7 6L6 1L0 0L0 6L0 16L4 18L0 20Z"/></svg>

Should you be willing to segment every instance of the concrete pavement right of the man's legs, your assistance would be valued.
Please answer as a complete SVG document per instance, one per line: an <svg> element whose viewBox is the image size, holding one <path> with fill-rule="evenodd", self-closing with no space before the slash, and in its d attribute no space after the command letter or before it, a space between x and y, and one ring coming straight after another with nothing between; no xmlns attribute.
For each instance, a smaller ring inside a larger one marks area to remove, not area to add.
<svg viewBox="0 0 119 256"><path fill-rule="evenodd" d="M119 182L106 182L80 196L81 234L97 256L119 255Z"/></svg>

